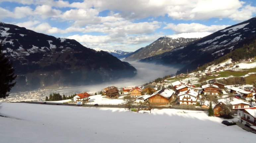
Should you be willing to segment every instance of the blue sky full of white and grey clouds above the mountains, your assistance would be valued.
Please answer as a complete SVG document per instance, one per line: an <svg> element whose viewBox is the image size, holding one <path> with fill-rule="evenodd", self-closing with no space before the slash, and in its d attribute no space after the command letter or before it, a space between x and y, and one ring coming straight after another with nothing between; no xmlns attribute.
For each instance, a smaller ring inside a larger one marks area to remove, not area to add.
<svg viewBox="0 0 256 143"><path fill-rule="evenodd" d="M0 0L1 22L124 51L162 36L204 37L255 16L255 0Z"/></svg>

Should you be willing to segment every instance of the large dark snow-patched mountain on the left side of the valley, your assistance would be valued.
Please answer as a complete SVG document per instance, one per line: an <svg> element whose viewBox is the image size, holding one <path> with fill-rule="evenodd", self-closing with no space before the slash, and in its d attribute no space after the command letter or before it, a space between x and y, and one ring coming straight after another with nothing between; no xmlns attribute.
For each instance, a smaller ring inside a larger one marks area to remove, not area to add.
<svg viewBox="0 0 256 143"><path fill-rule="evenodd" d="M136 74L129 63L105 51L12 24L0 23L0 42L18 75L17 90L89 85Z"/></svg>

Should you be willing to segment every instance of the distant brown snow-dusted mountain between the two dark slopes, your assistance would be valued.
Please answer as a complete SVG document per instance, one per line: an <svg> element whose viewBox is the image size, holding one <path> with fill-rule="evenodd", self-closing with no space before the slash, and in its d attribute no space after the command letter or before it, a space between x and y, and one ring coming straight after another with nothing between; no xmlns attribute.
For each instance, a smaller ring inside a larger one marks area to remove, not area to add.
<svg viewBox="0 0 256 143"><path fill-rule="evenodd" d="M175 47L180 45L185 45L194 40L198 40L199 38L169 38L169 37L161 37L155 42L149 44L146 47L140 48L137 51L133 52L131 55L125 58L127 61L140 60L143 58L155 56L162 54L164 52L171 51Z"/></svg>

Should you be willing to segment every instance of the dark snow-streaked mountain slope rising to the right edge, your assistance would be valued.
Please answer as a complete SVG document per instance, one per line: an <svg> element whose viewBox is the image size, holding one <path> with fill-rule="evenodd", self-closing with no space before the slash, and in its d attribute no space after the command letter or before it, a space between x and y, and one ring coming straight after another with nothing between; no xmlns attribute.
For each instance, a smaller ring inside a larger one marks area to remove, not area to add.
<svg viewBox="0 0 256 143"><path fill-rule="evenodd" d="M187 70L192 71L198 66L212 62L237 48L241 48L244 44L253 42L256 37L255 31L256 17L253 17L186 46L179 46L172 51L144 58L140 62L154 62L165 65L184 64L186 66L177 73L186 72Z"/></svg>

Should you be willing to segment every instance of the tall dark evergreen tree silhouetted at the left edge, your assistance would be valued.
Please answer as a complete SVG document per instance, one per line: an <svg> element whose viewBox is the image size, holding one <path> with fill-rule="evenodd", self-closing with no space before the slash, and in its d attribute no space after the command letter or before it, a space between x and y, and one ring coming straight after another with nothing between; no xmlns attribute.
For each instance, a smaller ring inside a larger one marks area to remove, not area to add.
<svg viewBox="0 0 256 143"><path fill-rule="evenodd" d="M12 63L9 63L9 58L2 53L0 45L0 99L9 96L8 92L16 84L16 81L13 82L16 76Z"/></svg>

